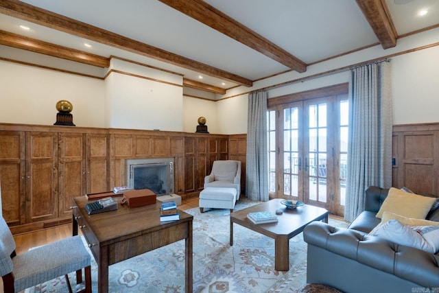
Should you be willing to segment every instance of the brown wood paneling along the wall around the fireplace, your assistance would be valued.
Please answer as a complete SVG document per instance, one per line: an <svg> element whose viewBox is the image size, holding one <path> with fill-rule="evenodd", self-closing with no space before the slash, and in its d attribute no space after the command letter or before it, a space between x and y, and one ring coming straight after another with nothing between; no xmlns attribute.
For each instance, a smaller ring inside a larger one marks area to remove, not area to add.
<svg viewBox="0 0 439 293"><path fill-rule="evenodd" d="M229 158L228 135L0 124L3 216L14 234L71 221L71 198L126 185L127 159L174 158L174 193L197 197L213 161ZM234 159L244 158L234 136ZM245 190L245 176L241 177Z"/></svg>

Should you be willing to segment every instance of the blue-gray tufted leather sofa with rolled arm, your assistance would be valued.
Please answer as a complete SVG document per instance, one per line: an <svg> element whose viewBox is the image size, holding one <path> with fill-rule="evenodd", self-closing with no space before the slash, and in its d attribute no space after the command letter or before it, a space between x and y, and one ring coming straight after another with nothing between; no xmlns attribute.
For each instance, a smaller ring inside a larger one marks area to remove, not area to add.
<svg viewBox="0 0 439 293"><path fill-rule="evenodd" d="M342 292L439 292L439 253L368 235L381 220L389 189L368 187L364 211L348 226L312 222L303 231L308 245L307 283ZM427 215L439 222L439 209Z"/></svg>

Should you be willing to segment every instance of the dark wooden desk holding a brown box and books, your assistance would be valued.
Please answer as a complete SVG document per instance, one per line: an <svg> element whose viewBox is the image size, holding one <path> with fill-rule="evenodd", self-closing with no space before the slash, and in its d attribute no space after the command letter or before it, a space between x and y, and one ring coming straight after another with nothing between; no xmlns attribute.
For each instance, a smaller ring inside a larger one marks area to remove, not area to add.
<svg viewBox="0 0 439 293"><path fill-rule="evenodd" d="M82 230L88 247L97 262L97 291L108 292L108 266L147 251L185 239L186 292L192 292L192 221L193 216L180 211L180 220L160 222L161 202L130 209L88 215L85 196L73 198L73 235Z"/></svg>

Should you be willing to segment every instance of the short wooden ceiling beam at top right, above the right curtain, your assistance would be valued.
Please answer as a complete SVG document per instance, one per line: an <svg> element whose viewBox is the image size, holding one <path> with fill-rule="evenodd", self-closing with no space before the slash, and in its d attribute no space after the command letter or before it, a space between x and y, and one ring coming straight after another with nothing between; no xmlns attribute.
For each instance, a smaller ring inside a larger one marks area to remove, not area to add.
<svg viewBox="0 0 439 293"><path fill-rule="evenodd" d="M383 49L396 46L396 29L384 0L356 0Z"/></svg>

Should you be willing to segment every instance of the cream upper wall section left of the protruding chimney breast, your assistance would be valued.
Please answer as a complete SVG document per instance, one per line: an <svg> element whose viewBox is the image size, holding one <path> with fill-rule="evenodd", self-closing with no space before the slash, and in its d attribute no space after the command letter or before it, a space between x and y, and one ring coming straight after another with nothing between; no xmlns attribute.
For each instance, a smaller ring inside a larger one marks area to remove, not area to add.
<svg viewBox="0 0 439 293"><path fill-rule="evenodd" d="M53 125L60 99L76 126L104 127L103 80L0 60L0 122Z"/></svg>

